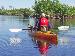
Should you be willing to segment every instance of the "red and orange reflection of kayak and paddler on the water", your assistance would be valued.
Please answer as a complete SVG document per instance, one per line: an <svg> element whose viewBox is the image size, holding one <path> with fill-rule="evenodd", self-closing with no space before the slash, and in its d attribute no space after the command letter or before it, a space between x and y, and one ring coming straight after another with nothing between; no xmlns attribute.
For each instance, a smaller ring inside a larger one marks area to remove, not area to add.
<svg viewBox="0 0 75 56"><path fill-rule="evenodd" d="M33 35L32 40L37 45L41 56L47 56L48 49L51 48L52 45L56 46L58 44L57 36Z"/></svg>

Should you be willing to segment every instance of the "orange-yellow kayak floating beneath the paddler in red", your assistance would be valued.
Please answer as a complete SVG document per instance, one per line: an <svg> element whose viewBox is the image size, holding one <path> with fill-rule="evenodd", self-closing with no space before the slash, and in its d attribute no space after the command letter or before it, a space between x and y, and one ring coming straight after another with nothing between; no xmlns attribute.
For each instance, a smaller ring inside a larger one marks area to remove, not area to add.
<svg viewBox="0 0 75 56"><path fill-rule="evenodd" d="M47 31L47 32L32 31L29 33L30 33L30 35L33 36L34 40L52 43L52 44L56 44L56 45L58 43L57 34L53 33L52 31Z"/></svg>

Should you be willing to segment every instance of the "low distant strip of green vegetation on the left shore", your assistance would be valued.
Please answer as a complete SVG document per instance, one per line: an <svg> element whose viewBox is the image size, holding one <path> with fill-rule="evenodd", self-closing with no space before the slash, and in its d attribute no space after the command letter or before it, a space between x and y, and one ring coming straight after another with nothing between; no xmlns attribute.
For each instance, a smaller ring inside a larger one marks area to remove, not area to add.
<svg viewBox="0 0 75 56"><path fill-rule="evenodd" d="M31 14L32 14L32 10L28 8L11 9L11 10L0 9L0 15L15 15L15 16L28 17Z"/></svg>

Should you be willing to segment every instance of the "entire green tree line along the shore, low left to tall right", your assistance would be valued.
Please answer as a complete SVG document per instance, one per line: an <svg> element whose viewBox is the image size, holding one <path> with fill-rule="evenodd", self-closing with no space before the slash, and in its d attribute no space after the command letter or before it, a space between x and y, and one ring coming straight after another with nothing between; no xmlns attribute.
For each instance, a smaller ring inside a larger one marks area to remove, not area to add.
<svg viewBox="0 0 75 56"><path fill-rule="evenodd" d="M75 16L75 7L61 4L59 0L35 0L32 8L34 11L29 8L7 10L2 7L0 9L0 15L22 15L28 17L30 15L40 15L44 12L52 18L60 18L61 20Z"/></svg>

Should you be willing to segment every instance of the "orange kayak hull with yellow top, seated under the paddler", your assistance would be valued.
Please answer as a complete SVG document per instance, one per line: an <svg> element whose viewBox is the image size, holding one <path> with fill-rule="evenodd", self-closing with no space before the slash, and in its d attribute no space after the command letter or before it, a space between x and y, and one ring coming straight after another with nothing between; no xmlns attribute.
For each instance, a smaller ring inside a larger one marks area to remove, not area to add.
<svg viewBox="0 0 75 56"><path fill-rule="evenodd" d="M44 41L57 40L57 34L51 32L51 31L47 31L47 32L32 31L31 35L37 40L44 40Z"/></svg>

